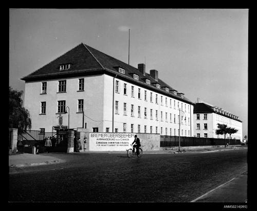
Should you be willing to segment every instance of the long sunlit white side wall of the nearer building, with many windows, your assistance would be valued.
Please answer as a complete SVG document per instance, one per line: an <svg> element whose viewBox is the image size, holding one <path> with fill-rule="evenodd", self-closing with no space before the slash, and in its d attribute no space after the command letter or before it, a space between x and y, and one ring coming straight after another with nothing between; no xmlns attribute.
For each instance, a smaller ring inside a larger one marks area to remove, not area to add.
<svg viewBox="0 0 257 211"><path fill-rule="evenodd" d="M163 128L162 135L166 134L167 128L167 135L170 135L170 128L172 129L172 135L174 135L174 128L176 129L176 135L178 135L178 115L179 110L177 109L177 102L174 108L174 99L160 95L159 93L149 91L143 89L140 86L125 82L120 79L115 79L115 81L119 81L119 93L114 94L114 107L115 101L119 102L119 114L114 114L114 130L118 128L118 132L123 132L123 123L126 123L126 132L131 132L131 124L134 124L134 133L138 133L138 125L140 125L140 132L144 133L144 126L146 126L146 133L150 133L150 126L153 127L152 133L156 133L156 127L158 127L158 133L160 133L160 128ZM123 87L124 83L127 84L126 86L126 95L123 94ZM116 84L116 82L115 82ZM134 86L134 97L131 95L131 87ZM138 99L138 88L140 88L141 92L141 99ZM115 87L114 87L115 89ZM144 91L146 90L146 100L144 100ZM153 93L153 102L150 102L150 93ZM155 103L155 96L158 95L158 104ZM105 128L109 128L109 132L112 132L112 114L113 114L113 77L104 75L104 125L103 129L105 132ZM161 104L161 98L163 96L163 103ZM165 100L167 97L167 107L165 104ZM170 99L172 99L172 104L170 108ZM123 103L126 103L126 115L123 113ZM183 103L183 111L185 112L185 102ZM134 117L131 116L131 104L134 104ZM180 108L181 108L181 101L179 101ZM187 125L181 125L181 130L183 130L183 134L185 135L185 130L187 130L187 136L189 136L188 131L190 131L190 126L188 124L188 117L190 117L190 109L185 112L187 117ZM138 106L141 108L141 118L138 117ZM144 118L144 108L146 108L147 118ZM153 109L153 119L150 119L150 109ZM158 110L158 121L156 121L155 113ZM160 111L163 112L163 121L160 120ZM168 122L166 122L166 112L168 113ZM115 109L114 109L115 113ZM172 122L170 122L170 113L172 114ZM176 115L176 123L174 124L174 114ZM184 115L184 114L183 114ZM184 118L185 118L184 115ZM191 106L191 124L193 125L193 106ZM193 126L192 126L193 129ZM190 133L190 132L189 132ZM193 134L193 131L192 131Z"/></svg>

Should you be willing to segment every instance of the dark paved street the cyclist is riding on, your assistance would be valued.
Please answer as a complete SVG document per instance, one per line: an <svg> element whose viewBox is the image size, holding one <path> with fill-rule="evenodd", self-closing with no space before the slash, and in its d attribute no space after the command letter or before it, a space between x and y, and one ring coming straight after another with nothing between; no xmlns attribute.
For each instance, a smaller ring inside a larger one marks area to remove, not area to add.
<svg viewBox="0 0 257 211"><path fill-rule="evenodd" d="M247 171L246 149L140 159L125 153L47 155L66 162L16 168L9 201L190 202Z"/></svg>

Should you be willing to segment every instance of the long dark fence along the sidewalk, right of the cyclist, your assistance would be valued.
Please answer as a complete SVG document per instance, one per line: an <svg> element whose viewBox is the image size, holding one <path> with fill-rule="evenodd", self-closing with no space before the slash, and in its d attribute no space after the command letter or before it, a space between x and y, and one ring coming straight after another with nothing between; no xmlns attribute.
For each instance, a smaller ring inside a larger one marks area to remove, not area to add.
<svg viewBox="0 0 257 211"><path fill-rule="evenodd" d="M240 139L224 139L224 138L198 138L180 136L180 146L215 146L215 145L240 145ZM179 145L179 136L160 136L160 147L177 147Z"/></svg>

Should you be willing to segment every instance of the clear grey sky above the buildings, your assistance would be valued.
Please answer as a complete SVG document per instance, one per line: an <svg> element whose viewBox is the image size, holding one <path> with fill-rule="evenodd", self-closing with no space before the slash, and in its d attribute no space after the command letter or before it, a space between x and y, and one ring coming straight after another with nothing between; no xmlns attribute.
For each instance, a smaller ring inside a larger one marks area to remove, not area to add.
<svg viewBox="0 0 257 211"><path fill-rule="evenodd" d="M79 45L145 63L195 102L243 121L248 133L248 9L10 9L9 85ZM24 97L24 96L23 96Z"/></svg>

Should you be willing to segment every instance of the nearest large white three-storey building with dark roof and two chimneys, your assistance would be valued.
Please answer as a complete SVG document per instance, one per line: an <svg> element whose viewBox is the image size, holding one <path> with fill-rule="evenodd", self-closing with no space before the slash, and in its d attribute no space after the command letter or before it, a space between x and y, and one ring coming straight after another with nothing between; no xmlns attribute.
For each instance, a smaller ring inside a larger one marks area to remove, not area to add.
<svg viewBox="0 0 257 211"><path fill-rule="evenodd" d="M144 64L135 68L83 43L22 80L32 130L51 132L61 124L88 132L178 135L180 108L180 134L193 136L194 103L160 80L158 71L145 73Z"/></svg>

